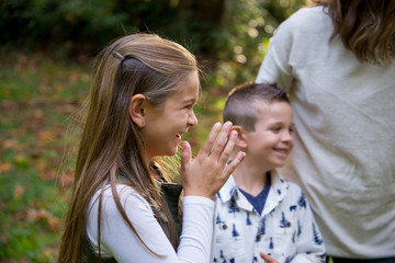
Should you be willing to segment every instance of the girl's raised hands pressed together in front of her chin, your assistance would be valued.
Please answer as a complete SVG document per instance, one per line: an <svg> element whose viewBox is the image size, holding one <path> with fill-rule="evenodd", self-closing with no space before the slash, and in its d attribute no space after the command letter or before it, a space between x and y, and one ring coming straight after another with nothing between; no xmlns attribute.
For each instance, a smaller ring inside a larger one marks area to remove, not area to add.
<svg viewBox="0 0 395 263"><path fill-rule="evenodd" d="M219 123L215 124L193 160L191 146L187 141L182 142L181 185L185 196L213 198L244 159L245 153L240 151L226 165L237 138L235 130L229 135L230 127L230 122L225 123L222 128Z"/></svg>

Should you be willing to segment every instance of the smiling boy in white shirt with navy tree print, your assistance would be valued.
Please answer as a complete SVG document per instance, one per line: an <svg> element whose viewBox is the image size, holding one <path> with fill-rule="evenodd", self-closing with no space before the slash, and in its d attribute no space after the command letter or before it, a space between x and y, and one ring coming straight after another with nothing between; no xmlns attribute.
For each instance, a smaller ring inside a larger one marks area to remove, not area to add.
<svg viewBox="0 0 395 263"><path fill-rule="evenodd" d="M238 133L234 152L246 157L216 195L211 262L325 262L305 195L275 170L294 144L287 95L246 83L230 91L223 116Z"/></svg>

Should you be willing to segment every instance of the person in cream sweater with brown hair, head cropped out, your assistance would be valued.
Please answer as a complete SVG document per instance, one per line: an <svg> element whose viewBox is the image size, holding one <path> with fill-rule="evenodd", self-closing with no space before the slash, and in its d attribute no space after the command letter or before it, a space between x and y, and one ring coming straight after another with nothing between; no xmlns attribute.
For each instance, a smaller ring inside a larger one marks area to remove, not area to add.
<svg viewBox="0 0 395 263"><path fill-rule="evenodd" d="M307 194L328 255L395 262L395 1L327 0L271 38L257 82L290 93L282 173Z"/></svg>

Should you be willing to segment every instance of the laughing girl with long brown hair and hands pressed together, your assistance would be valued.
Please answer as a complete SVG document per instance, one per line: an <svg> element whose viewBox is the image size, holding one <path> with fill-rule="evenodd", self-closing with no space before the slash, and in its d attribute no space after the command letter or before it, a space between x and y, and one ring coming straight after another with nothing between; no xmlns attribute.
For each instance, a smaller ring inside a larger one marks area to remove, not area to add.
<svg viewBox="0 0 395 263"><path fill-rule="evenodd" d="M193 160L182 142L180 240L180 188L157 160L198 124L194 56L157 35L129 35L102 50L93 77L59 262L208 262L212 197L244 158L225 165L232 123L214 125Z"/></svg>

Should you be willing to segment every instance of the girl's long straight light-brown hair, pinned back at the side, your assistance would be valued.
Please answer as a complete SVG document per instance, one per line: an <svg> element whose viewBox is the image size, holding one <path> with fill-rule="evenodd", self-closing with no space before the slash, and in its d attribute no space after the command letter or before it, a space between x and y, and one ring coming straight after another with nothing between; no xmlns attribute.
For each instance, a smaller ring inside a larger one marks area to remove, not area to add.
<svg viewBox="0 0 395 263"><path fill-rule="evenodd" d="M181 45L155 34L134 34L115 41L98 58L61 236L59 262L81 261L88 205L99 190L101 194L95 202L99 202L100 253L102 194L109 184L123 219L143 242L121 205L115 187L120 183L120 174L126 176L128 185L148 199L154 208L155 205L160 206L169 222L172 221L153 174L143 160L144 140L139 128L128 116L128 108L135 94L144 94L156 107L162 106L183 78L199 71L195 57ZM177 237L171 224L170 231L174 245Z"/></svg>

